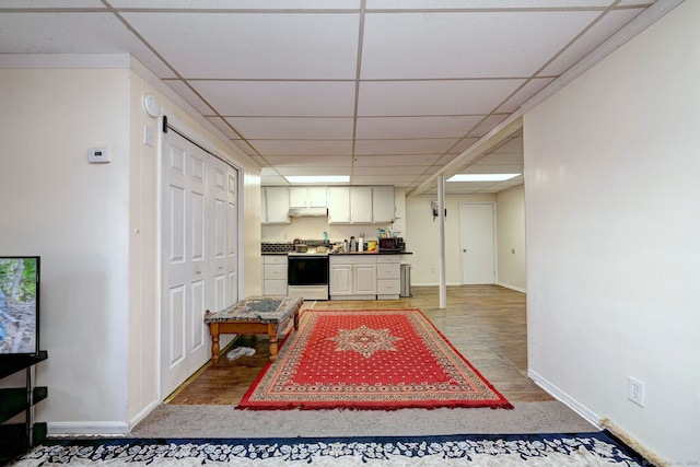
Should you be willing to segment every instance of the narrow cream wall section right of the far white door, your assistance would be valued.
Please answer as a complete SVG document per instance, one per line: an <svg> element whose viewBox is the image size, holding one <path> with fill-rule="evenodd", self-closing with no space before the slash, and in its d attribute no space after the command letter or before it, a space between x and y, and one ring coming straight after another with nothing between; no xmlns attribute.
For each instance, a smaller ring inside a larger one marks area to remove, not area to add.
<svg viewBox="0 0 700 467"><path fill-rule="evenodd" d="M495 202L498 283L525 292L525 189L521 186L502 191Z"/></svg>

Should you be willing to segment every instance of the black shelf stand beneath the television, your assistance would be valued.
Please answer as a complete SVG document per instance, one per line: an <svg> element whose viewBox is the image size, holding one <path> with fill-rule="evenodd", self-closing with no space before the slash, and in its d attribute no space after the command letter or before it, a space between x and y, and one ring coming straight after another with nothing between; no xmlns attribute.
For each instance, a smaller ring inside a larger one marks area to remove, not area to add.
<svg viewBox="0 0 700 467"><path fill-rule="evenodd" d="M36 355L5 355L0 360L0 380L25 371L25 387L0 388L0 465L46 439L46 423L35 423L32 408L46 399L48 388L33 386L32 366L48 359L48 352ZM24 421L14 421L24 412Z"/></svg>

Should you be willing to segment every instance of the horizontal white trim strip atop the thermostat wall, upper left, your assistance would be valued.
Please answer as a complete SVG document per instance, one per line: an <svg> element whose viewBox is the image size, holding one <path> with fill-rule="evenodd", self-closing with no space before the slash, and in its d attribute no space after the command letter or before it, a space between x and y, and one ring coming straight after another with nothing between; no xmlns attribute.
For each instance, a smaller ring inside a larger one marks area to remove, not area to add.
<svg viewBox="0 0 700 467"><path fill-rule="evenodd" d="M0 68L131 68L129 54L2 54Z"/></svg>

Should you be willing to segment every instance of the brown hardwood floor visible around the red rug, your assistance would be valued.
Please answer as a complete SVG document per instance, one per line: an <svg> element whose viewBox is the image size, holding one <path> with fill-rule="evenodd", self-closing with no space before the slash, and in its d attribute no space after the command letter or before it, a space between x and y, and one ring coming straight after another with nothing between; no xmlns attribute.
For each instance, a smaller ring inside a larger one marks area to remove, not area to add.
<svg viewBox="0 0 700 467"><path fill-rule="evenodd" d="M452 345L511 402L555 400L527 377L526 295L499 285L447 288L440 310L438 287L413 287L413 296L392 301L305 302L304 310L420 308ZM241 336L233 347L256 353L205 365L167 404L237 405L268 360L268 340Z"/></svg>

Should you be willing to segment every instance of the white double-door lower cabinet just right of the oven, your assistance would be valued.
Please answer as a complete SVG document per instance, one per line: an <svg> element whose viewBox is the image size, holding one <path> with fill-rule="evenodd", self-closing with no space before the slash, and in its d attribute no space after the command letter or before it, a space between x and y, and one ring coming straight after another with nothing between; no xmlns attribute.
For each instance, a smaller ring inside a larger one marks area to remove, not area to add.
<svg viewBox="0 0 700 467"><path fill-rule="evenodd" d="M330 300L375 300L376 256L330 256Z"/></svg>

